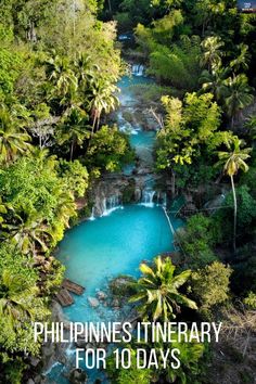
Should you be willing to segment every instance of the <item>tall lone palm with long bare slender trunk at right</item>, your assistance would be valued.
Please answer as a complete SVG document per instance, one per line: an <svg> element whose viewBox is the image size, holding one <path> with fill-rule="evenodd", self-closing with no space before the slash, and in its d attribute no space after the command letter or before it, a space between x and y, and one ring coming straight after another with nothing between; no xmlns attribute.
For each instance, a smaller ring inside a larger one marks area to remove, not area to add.
<svg viewBox="0 0 256 384"><path fill-rule="evenodd" d="M218 152L219 162L217 165L223 165L223 172L230 177L232 192L233 192L233 202L234 202L234 218L233 218L233 251L236 248L236 216L238 216L238 202L236 194L234 188L234 176L238 174L239 169L242 169L244 172L248 170L248 166L245 163L247 158L249 158L251 148L241 149L242 140L238 137L233 139L233 148L232 144L227 141L226 146L228 149L227 152L220 151Z"/></svg>

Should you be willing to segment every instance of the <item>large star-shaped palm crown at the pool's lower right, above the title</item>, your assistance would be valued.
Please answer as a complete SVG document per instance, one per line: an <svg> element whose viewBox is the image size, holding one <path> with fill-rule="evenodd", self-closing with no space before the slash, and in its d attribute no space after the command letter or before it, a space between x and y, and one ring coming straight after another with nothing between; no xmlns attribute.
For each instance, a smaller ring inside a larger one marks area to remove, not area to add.
<svg viewBox="0 0 256 384"><path fill-rule="evenodd" d="M189 279L191 271L185 270L174 276L175 269L170 258L162 260L161 256L154 259L152 268L145 264L140 265L143 277L135 283L138 293L130 298L130 302L141 302L138 309L143 319L152 317L153 321L159 318L168 321L176 317L174 312L180 311L180 305L197 309L194 302L178 291Z"/></svg>

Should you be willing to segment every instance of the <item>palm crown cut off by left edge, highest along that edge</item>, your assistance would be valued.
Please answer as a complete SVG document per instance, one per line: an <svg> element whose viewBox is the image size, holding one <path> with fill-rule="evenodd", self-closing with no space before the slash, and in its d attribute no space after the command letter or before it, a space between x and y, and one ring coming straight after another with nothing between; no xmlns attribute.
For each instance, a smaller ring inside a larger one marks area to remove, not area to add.
<svg viewBox="0 0 256 384"><path fill-rule="evenodd" d="M30 149L30 137L21 131L18 120L5 108L0 108L0 161L13 162L18 155Z"/></svg>

